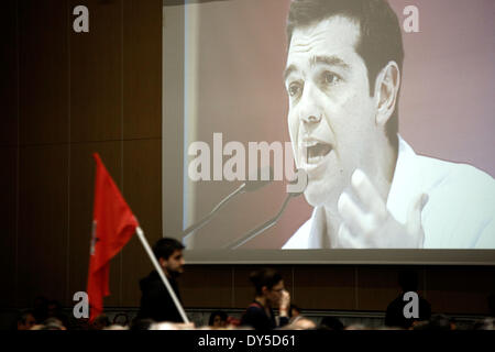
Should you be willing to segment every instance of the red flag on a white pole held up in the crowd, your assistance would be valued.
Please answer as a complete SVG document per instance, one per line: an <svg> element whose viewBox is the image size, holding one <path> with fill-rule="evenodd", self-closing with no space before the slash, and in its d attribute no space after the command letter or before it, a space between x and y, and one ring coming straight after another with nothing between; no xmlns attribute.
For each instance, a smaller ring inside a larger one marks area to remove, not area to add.
<svg viewBox="0 0 495 352"><path fill-rule="evenodd" d="M139 227L116 183L98 153L95 153L96 184L92 212L92 237L89 256L88 296L92 321L103 311L103 297L110 295L110 260L122 250Z"/></svg>

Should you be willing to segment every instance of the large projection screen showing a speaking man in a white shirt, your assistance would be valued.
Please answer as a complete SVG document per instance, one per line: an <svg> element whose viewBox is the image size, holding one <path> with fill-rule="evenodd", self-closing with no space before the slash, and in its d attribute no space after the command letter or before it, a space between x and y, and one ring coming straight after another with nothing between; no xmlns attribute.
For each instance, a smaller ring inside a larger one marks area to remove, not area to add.
<svg viewBox="0 0 495 352"><path fill-rule="evenodd" d="M493 265L495 2L290 6L164 0L163 235L188 263Z"/></svg>

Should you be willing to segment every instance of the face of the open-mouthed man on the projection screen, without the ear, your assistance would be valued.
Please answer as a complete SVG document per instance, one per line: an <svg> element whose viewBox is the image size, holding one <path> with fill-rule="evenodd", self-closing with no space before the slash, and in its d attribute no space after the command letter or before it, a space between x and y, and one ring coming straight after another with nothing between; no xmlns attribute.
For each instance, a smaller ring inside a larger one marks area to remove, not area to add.
<svg viewBox="0 0 495 352"><path fill-rule="evenodd" d="M359 37L359 24L343 16L293 32L285 72L288 127L314 207L336 202L353 170L372 163L375 105L355 52Z"/></svg>

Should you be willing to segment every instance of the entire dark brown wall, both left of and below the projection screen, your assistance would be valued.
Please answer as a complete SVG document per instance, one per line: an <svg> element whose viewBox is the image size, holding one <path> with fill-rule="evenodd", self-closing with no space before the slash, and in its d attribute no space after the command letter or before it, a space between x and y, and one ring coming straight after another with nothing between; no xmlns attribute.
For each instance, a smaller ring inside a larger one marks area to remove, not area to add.
<svg viewBox="0 0 495 352"><path fill-rule="evenodd" d="M74 7L90 32L72 30ZM0 308L85 290L95 167L103 162L150 242L162 233L162 0L0 2ZM245 307L254 266L190 266L186 307ZM384 310L398 266L280 266L305 309ZM419 266L435 311L486 314L494 267ZM135 307L151 264L136 238L112 260L106 306Z"/></svg>

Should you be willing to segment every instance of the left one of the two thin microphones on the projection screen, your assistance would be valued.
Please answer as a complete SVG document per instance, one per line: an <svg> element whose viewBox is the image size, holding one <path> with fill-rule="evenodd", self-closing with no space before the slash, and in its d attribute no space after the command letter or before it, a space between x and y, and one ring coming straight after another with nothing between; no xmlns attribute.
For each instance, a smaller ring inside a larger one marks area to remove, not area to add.
<svg viewBox="0 0 495 352"><path fill-rule="evenodd" d="M261 176L261 177L260 177ZM265 176L265 177L263 177ZM266 177L267 176L267 177ZM195 231L199 230L204 226L206 226L208 222L211 221L213 216L223 208L229 201L231 201L235 196L249 193L249 191L256 191L270 183L272 183L274 179L274 173L272 166L265 166L261 169L256 170L256 175L250 175L249 179L245 180L241 186L239 186L234 191L232 191L230 195L224 197L206 217L204 217L198 222L191 224L186 230L184 230L180 233L180 237L183 238L183 244L187 249L193 249L194 246L194 235Z"/></svg>

